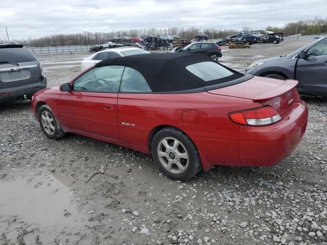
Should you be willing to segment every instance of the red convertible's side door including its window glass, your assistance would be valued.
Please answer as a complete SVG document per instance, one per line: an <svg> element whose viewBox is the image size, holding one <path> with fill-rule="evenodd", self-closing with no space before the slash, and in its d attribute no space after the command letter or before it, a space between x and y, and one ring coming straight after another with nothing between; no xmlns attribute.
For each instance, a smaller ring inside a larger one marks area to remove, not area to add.
<svg viewBox="0 0 327 245"><path fill-rule="evenodd" d="M119 139L117 97L124 66L95 67L62 92L58 110L63 127Z"/></svg>

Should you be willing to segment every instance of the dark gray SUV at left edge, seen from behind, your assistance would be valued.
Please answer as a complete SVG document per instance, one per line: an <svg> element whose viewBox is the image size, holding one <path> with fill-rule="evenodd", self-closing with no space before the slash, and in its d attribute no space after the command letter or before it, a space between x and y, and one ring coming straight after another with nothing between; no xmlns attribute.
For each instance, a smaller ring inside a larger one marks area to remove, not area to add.
<svg viewBox="0 0 327 245"><path fill-rule="evenodd" d="M40 63L23 45L0 43L0 103L31 99L46 88Z"/></svg>

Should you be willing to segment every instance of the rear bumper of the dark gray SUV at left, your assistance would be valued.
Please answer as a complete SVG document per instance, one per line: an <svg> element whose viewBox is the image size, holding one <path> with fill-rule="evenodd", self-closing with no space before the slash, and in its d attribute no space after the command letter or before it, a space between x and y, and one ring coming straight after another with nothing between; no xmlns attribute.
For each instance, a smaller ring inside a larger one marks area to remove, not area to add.
<svg viewBox="0 0 327 245"><path fill-rule="evenodd" d="M42 76L38 83L2 89L0 90L0 103L18 100L24 95L31 97L35 92L44 88L46 88L46 77Z"/></svg>

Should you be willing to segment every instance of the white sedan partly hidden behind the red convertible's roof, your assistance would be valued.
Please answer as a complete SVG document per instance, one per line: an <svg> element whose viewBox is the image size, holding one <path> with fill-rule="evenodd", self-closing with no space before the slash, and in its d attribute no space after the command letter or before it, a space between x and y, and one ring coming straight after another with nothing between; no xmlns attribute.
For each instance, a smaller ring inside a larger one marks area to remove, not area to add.
<svg viewBox="0 0 327 245"><path fill-rule="evenodd" d="M110 48L110 50L99 51L91 56L85 58L81 63L81 70L102 61L118 57L130 56L130 55L140 55L140 54L150 54L150 52L142 50L138 47L116 47Z"/></svg>

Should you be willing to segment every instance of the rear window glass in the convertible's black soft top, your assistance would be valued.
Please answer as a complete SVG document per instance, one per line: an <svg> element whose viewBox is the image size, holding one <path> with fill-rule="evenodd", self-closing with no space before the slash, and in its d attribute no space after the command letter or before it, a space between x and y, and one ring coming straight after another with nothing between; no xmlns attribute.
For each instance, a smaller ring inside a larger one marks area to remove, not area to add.
<svg viewBox="0 0 327 245"><path fill-rule="evenodd" d="M236 73L212 61L195 63L185 68L205 82L226 78Z"/></svg>

